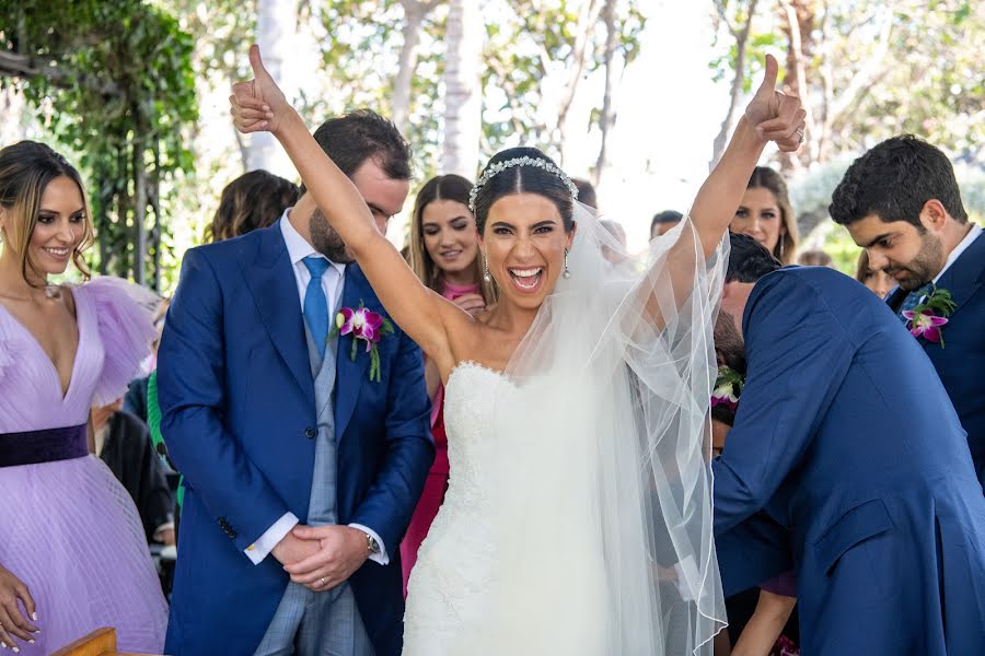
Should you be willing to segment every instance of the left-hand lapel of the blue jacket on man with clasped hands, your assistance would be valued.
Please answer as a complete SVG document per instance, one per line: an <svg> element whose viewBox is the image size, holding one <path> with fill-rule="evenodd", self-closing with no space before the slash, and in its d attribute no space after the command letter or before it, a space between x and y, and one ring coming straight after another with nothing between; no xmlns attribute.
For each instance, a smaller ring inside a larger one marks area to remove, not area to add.
<svg viewBox="0 0 985 656"><path fill-rule="evenodd" d="M260 320L277 352L283 359L298 385L314 405L314 382L311 376L304 324L298 298L298 283L288 256L280 222L257 231L258 246L243 242L237 258L243 278L253 293ZM251 257L252 256L252 257Z"/></svg>

